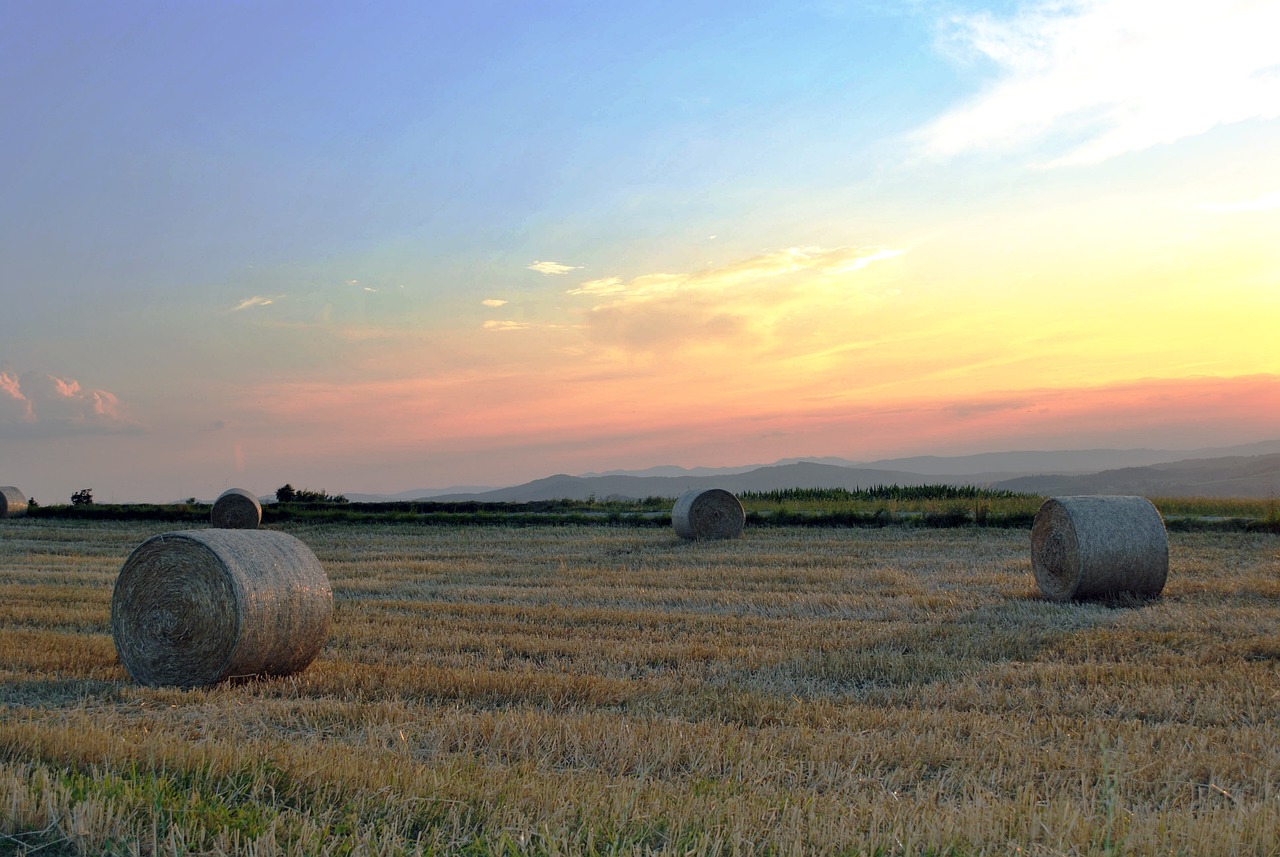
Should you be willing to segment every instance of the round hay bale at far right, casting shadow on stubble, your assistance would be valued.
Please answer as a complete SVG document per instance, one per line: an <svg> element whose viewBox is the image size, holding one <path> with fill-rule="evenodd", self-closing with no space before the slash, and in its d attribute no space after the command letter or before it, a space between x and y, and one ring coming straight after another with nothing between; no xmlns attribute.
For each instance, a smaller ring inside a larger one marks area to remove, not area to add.
<svg viewBox="0 0 1280 857"><path fill-rule="evenodd" d="M1051 601L1155 597L1169 576L1169 533L1146 498L1051 498L1032 524L1032 570Z"/></svg>

